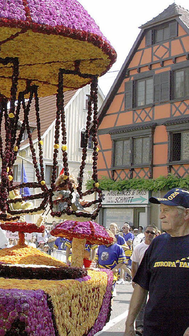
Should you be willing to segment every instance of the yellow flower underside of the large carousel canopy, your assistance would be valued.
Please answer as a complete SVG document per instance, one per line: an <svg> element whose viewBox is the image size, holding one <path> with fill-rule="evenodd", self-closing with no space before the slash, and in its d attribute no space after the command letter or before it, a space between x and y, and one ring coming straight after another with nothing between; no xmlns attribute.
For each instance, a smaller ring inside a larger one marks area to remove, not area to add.
<svg viewBox="0 0 189 336"><path fill-rule="evenodd" d="M0 39L6 40L7 36L12 35L10 31L14 34L20 29L0 27ZM79 41L61 35L36 33L31 30L1 45L1 57L5 58L6 56L18 57L19 59L17 92L25 89L25 78L27 78L32 80L31 85L39 86L39 96L56 93L59 68L74 70L75 59L82 60L80 64L82 73L93 75L100 75L106 71L110 64L109 56L101 48L88 41ZM38 60L38 64L36 64L36 60ZM10 96L11 76L11 65L0 65L1 93L7 97ZM64 75L65 90L79 88L89 81L87 78Z"/></svg>

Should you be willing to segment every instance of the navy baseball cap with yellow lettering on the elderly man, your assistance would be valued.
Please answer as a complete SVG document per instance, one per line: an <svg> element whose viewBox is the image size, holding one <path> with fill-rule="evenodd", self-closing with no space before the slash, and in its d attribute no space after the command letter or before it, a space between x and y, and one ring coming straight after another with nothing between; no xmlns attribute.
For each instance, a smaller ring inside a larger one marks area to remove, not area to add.
<svg viewBox="0 0 189 336"><path fill-rule="evenodd" d="M150 197L150 203L155 204L165 204L171 206L180 205L184 208L189 208L189 191L174 188L171 189L163 198L161 197Z"/></svg>

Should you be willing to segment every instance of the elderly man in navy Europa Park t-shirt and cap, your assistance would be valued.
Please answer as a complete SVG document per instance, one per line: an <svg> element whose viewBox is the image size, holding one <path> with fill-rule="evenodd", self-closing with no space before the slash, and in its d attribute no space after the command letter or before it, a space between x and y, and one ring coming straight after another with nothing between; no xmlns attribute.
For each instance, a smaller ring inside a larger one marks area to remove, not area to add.
<svg viewBox="0 0 189 336"><path fill-rule="evenodd" d="M135 286L124 336L133 336L134 320L147 291L143 336L189 336L189 192L174 188L160 204L162 229L146 250Z"/></svg>

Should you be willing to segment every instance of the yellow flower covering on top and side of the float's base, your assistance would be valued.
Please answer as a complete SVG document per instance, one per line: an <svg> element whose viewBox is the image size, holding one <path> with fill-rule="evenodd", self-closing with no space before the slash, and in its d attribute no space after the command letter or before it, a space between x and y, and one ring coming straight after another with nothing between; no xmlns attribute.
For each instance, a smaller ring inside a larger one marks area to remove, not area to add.
<svg viewBox="0 0 189 336"><path fill-rule="evenodd" d="M91 279L81 283L76 280L0 278L0 288L44 290L52 298L59 335L75 336L76 329L77 335L83 335L94 325L107 287L106 272L89 270L88 275Z"/></svg>

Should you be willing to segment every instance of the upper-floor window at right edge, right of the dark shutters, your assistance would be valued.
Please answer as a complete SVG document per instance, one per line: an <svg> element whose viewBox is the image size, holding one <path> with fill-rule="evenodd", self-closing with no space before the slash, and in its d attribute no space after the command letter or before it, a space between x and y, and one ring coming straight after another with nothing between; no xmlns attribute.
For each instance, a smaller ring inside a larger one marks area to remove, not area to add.
<svg viewBox="0 0 189 336"><path fill-rule="evenodd" d="M189 68L174 72L174 98L189 96Z"/></svg>

